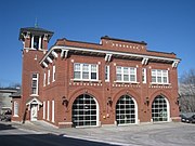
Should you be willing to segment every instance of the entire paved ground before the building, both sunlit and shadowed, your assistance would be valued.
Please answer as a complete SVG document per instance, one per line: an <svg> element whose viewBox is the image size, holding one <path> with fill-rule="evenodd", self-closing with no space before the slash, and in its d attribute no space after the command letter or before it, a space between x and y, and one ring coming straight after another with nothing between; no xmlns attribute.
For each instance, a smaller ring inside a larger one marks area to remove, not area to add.
<svg viewBox="0 0 195 146"><path fill-rule="evenodd" d="M0 122L0 146L194 146L195 124L168 122L127 127L57 129L44 121Z"/></svg>

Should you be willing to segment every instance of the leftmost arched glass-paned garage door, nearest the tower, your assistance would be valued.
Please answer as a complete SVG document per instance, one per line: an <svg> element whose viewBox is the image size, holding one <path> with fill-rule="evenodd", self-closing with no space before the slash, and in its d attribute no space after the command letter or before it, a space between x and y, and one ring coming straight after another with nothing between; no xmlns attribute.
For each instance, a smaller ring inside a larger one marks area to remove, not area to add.
<svg viewBox="0 0 195 146"><path fill-rule="evenodd" d="M98 125L99 105L96 99L88 94L78 96L73 104L72 119L74 127Z"/></svg>

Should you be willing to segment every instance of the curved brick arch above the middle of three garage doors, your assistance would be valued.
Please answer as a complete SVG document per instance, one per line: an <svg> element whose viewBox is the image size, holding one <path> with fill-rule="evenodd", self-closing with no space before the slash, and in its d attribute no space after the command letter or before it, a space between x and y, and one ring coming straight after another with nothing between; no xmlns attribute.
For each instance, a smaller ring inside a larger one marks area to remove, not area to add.
<svg viewBox="0 0 195 146"><path fill-rule="evenodd" d="M122 95L129 95L131 97L134 98L134 101L136 102L138 106L139 106L139 101L140 101L140 94L134 92L133 90L127 90L127 89L122 89L120 91L118 91L113 98L113 105L114 107L116 106L118 99L122 96Z"/></svg>

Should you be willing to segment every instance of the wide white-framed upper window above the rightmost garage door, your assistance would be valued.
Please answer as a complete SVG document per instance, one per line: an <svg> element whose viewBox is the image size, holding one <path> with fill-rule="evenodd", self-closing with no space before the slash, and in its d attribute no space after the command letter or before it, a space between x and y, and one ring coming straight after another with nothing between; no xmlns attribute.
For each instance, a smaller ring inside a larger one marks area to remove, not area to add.
<svg viewBox="0 0 195 146"><path fill-rule="evenodd" d="M152 83L169 83L168 70L152 69Z"/></svg>

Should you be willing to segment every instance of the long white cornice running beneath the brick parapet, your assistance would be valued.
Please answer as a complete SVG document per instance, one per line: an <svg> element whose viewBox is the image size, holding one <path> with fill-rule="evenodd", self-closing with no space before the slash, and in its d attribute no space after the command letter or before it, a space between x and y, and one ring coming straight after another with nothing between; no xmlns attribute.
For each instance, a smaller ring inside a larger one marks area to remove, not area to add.
<svg viewBox="0 0 195 146"><path fill-rule="evenodd" d="M93 53L101 53L101 54L112 54L112 55L122 55L122 56L132 56L132 57L140 57L140 58L148 58L148 59L157 59L157 61L169 61L169 62L177 62L180 63L179 58L171 58L171 57L164 57L164 56L153 56L153 55L144 55L144 54L133 54L133 53L125 53L125 52L117 52L117 51L107 51L107 50L100 50L100 49L86 49L86 48L75 48L75 47L61 47L61 45L54 45L50 49L50 51L44 55L44 57L41 59L40 64L44 62L47 56L52 53L56 54L55 50L62 50L62 51L81 51L81 52L93 52ZM147 59L147 61L148 61Z"/></svg>

